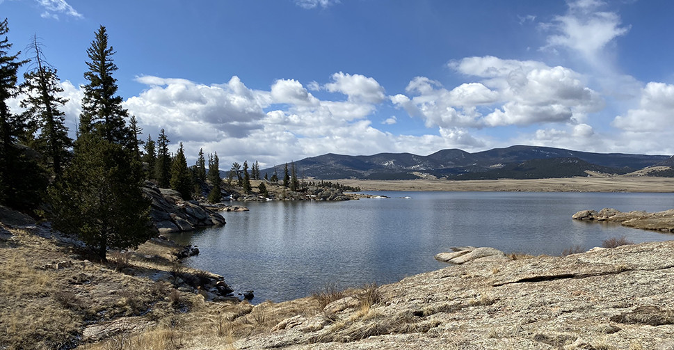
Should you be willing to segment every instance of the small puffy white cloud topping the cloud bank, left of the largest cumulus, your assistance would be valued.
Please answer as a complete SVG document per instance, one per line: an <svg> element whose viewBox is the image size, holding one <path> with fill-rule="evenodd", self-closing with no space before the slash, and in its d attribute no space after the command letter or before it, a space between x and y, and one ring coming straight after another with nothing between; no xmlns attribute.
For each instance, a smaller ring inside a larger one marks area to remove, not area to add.
<svg viewBox="0 0 674 350"><path fill-rule="evenodd" d="M351 102L378 104L386 98L384 88L374 78L343 72L332 74L331 78L332 83L327 83L324 88L331 93L347 95Z"/></svg>

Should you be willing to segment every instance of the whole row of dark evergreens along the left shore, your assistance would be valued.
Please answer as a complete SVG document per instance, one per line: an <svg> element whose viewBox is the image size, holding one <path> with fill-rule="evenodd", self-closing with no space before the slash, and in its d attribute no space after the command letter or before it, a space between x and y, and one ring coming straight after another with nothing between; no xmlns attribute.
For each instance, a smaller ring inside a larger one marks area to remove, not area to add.
<svg viewBox="0 0 674 350"><path fill-rule="evenodd" d="M157 141L142 132L135 116L122 107L118 95L115 51L108 33L99 26L86 49L81 113L76 138L68 136L58 71L45 60L37 35L29 45L29 59L19 59L8 40L8 20L0 22L0 205L49 218L52 227L77 234L105 260L109 248L138 246L152 236L150 200L143 195L147 180L178 191L185 200L205 196L222 200L223 186L239 186L252 193L251 180L262 180L259 163L248 169L234 162L223 182L218 153L200 149L193 166L187 165L182 143L172 154L164 129ZM26 65L18 83L19 67ZM12 113L8 101L19 94L23 111ZM141 151L141 146L143 150ZM268 196L265 182L282 184L291 191L306 191L310 184L298 180L295 163L267 174L257 192ZM333 186L332 184L316 184ZM338 187L339 188L339 187ZM346 188L342 188L346 189Z"/></svg>

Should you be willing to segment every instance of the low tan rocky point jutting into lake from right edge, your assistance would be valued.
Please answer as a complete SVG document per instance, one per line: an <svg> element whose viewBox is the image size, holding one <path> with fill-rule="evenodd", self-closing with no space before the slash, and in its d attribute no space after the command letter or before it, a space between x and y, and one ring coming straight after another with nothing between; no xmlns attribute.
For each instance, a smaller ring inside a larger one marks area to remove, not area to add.
<svg viewBox="0 0 674 350"><path fill-rule="evenodd" d="M610 221L620 223L620 225L629 228L674 232L674 209L657 213L643 211L620 212L612 208L604 208L599 212L595 210L581 210L573 214L571 218L582 221Z"/></svg>

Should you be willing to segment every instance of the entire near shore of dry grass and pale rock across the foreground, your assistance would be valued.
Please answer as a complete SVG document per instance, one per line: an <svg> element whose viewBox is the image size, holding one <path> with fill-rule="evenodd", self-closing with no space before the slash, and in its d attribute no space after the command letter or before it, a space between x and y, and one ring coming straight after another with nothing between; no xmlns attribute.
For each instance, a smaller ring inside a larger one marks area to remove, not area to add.
<svg viewBox="0 0 674 350"><path fill-rule="evenodd" d="M458 247L455 264L390 285L250 305L220 276L172 264L168 242L88 262L47 226L0 214L0 327L17 324L0 344L25 349L674 347L674 241L517 259Z"/></svg>

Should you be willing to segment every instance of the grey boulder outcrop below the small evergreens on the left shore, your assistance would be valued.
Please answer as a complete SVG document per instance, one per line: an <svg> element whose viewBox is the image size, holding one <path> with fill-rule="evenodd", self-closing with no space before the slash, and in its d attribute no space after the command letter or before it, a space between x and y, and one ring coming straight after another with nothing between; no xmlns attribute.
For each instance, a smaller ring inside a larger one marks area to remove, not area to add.
<svg viewBox="0 0 674 350"><path fill-rule="evenodd" d="M195 200L183 200L172 189L159 189L145 182L143 193L152 199L150 216L159 233L191 231L195 228L225 225L225 218Z"/></svg>

